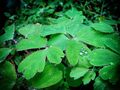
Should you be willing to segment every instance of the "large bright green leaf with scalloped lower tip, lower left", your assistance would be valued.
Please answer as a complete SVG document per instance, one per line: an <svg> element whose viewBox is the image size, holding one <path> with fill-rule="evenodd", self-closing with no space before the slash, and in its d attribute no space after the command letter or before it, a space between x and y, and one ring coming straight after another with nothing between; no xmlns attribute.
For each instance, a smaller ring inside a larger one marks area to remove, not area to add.
<svg viewBox="0 0 120 90"><path fill-rule="evenodd" d="M46 51L39 50L27 56L18 66L26 79L34 77L37 72L42 72L45 67ZM33 68L34 67L34 68Z"/></svg>

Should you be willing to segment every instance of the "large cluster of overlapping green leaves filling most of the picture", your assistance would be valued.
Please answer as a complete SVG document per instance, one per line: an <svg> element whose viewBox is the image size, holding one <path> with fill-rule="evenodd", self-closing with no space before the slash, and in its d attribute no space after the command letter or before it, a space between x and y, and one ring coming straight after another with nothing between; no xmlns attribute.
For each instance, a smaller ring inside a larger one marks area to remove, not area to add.
<svg viewBox="0 0 120 90"><path fill-rule="evenodd" d="M69 90L91 81L94 90L112 90L119 83L120 37L113 27L119 22L92 22L74 7L56 12L57 2L22 9L20 18L5 28L0 36L0 90L23 84Z"/></svg>

